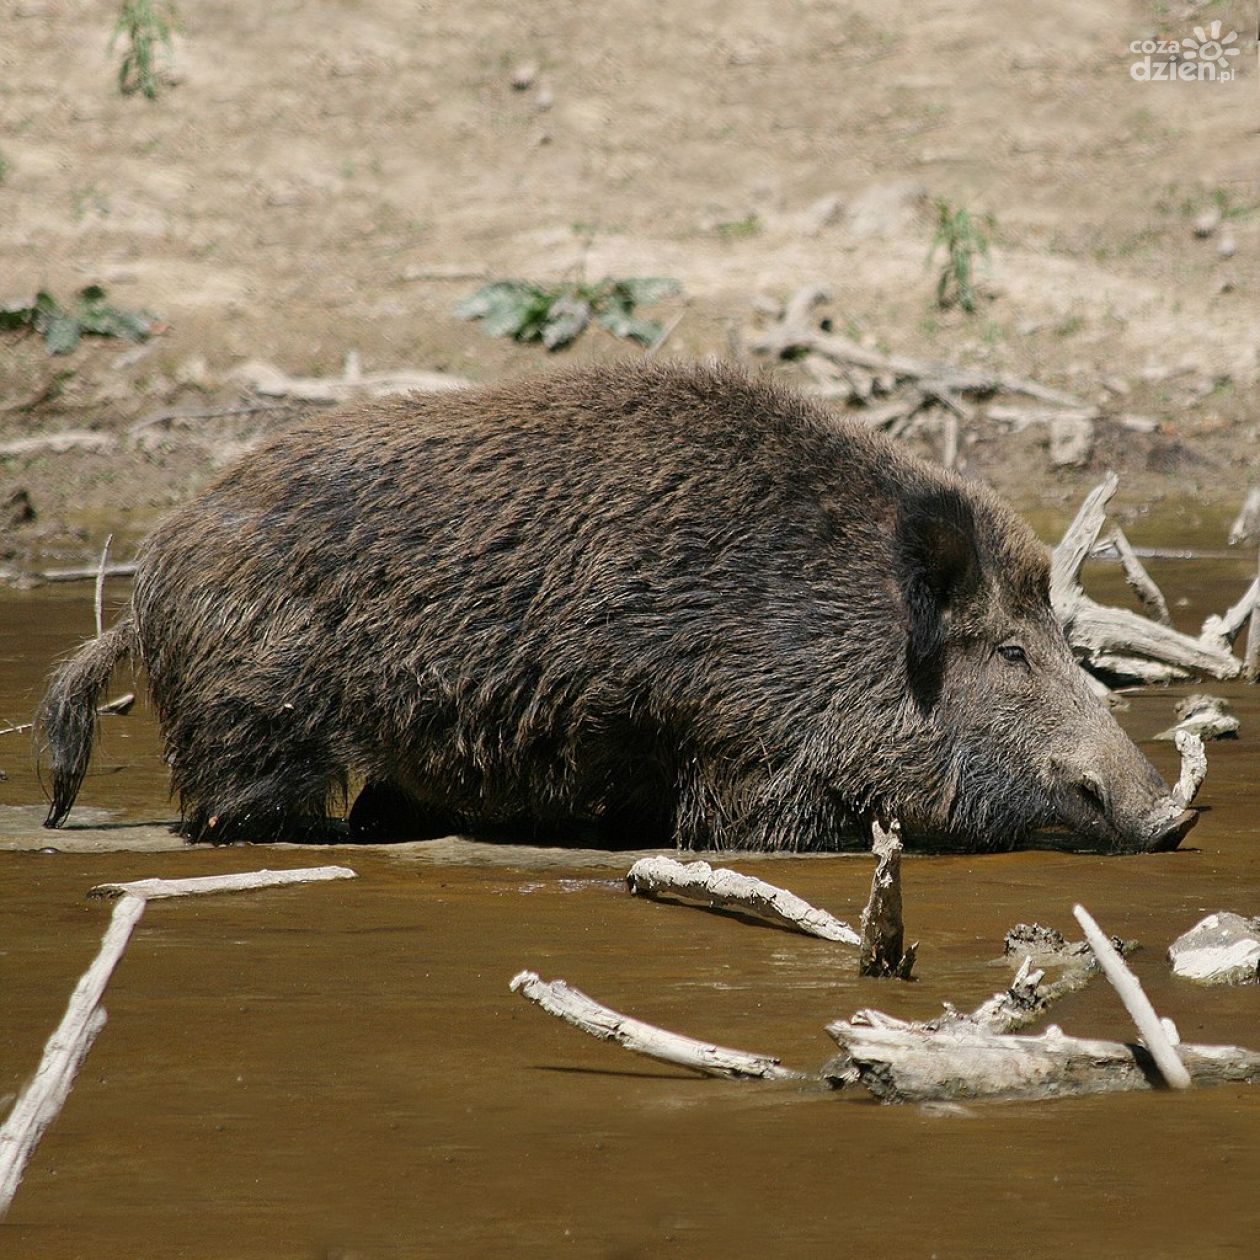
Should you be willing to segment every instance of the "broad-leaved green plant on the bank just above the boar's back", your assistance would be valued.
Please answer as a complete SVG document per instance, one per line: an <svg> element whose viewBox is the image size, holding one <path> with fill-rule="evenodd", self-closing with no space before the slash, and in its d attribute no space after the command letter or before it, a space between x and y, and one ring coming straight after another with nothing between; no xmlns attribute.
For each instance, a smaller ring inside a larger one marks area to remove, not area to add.
<svg viewBox="0 0 1260 1260"><path fill-rule="evenodd" d="M527 280L498 280L466 297L455 314L480 320L490 336L542 341L548 350L571 345L592 320L614 336L651 345L660 336L660 325L641 319L638 307L678 290L678 281L658 276L609 276L596 284L570 281L552 287Z"/></svg>

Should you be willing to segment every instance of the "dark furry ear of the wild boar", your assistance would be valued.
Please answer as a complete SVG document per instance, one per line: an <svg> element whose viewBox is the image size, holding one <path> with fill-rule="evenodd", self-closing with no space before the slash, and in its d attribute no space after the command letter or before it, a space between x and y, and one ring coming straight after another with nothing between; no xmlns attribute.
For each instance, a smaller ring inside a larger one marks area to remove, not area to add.
<svg viewBox="0 0 1260 1260"><path fill-rule="evenodd" d="M951 612L975 593L980 557L966 499L942 488L901 501L897 581L906 611L906 670L915 699L930 708L940 694Z"/></svg>

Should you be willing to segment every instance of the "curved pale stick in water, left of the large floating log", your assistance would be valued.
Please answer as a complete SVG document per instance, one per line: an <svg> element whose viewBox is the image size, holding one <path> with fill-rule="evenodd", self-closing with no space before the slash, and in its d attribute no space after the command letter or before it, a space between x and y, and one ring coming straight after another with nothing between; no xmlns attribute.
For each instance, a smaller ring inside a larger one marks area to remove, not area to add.
<svg viewBox="0 0 1260 1260"><path fill-rule="evenodd" d="M543 980L537 971L520 971L512 979L512 992L542 1007L566 1023L600 1041L612 1041L635 1055L689 1067L706 1076L731 1080L799 1080L800 1072L784 1067L770 1055L750 1055L712 1042L694 1041L667 1032L640 1019L610 1011L563 980Z"/></svg>

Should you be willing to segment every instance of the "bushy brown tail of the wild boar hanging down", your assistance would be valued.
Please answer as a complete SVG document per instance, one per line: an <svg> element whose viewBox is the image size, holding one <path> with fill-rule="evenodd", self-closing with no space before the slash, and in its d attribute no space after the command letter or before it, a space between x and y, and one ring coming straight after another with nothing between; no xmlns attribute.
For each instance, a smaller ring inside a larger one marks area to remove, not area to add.
<svg viewBox="0 0 1260 1260"><path fill-rule="evenodd" d="M47 764L53 780L53 803L44 827L60 827L74 804L96 740L96 702L110 682L113 667L130 656L135 645L131 609L105 634L86 643L58 667L35 714L40 746L40 771Z"/></svg>

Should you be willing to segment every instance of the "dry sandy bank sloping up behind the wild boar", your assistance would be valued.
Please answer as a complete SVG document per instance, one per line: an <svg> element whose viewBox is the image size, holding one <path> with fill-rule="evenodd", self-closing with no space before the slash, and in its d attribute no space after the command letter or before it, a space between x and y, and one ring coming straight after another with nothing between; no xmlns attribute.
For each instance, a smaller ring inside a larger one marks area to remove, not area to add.
<svg viewBox="0 0 1260 1260"><path fill-rule="evenodd" d="M115 89L116 13L0 5L0 299L100 282L168 328L55 359L6 336L0 442L238 403L247 359L534 369L541 348L452 309L483 276L585 267L675 277L683 296L650 312L683 312L672 353L746 355L759 300L820 282L867 344L1100 403L1079 470L1048 466L1043 426L964 426L966 467L1024 505L1105 465L1130 503L1236 503L1256 476L1260 111L1241 4L208 0L180 6L156 102ZM1236 81L1133 78L1134 40L1213 20L1239 32ZM971 316L934 305L937 197L997 220ZM1213 207L1223 220L1196 236ZM622 353L639 352L597 331L568 358ZM4 549L21 563L139 530L285 418L0 460L0 501L23 488L39 513Z"/></svg>

